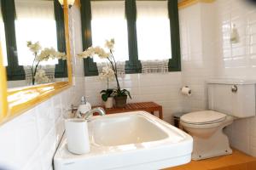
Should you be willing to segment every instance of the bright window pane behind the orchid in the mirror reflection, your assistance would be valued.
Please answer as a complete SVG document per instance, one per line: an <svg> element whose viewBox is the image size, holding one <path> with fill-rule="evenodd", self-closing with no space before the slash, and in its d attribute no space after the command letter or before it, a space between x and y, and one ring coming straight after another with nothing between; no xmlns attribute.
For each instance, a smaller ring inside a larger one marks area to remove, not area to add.
<svg viewBox="0 0 256 170"><path fill-rule="evenodd" d="M42 48L57 49L54 1L15 1L16 43L19 65L32 65L34 56L26 47L27 41L40 42ZM55 65L57 59L41 62L41 65Z"/></svg>

